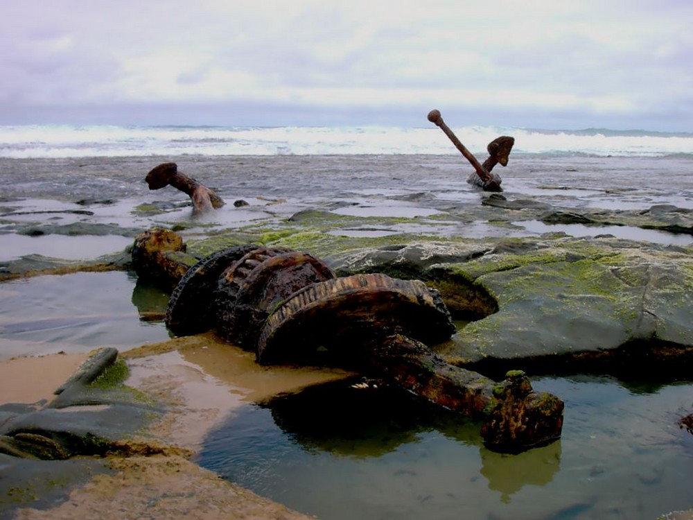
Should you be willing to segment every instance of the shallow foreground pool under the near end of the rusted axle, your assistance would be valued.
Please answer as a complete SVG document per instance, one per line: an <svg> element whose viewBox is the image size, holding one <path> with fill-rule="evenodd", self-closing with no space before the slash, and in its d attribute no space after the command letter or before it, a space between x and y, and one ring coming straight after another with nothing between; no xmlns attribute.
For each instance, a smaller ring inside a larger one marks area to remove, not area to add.
<svg viewBox="0 0 693 520"><path fill-rule="evenodd" d="M693 383L533 385L565 400L563 437L519 455L486 449L476 422L341 381L243 408L199 462L325 520L651 520L691 508L693 435L676 422Z"/></svg>

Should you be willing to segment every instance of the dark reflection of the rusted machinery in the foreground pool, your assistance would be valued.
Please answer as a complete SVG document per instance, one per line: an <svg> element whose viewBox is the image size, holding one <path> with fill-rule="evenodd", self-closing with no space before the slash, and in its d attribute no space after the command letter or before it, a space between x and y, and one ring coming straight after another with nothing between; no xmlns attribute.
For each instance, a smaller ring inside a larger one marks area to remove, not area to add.
<svg viewBox="0 0 693 520"><path fill-rule="evenodd" d="M489 489L500 492L503 502L525 485L550 483L560 469L560 441L517 456L495 453L482 444L477 422L393 388L337 381L277 397L263 407L293 442L308 451L376 458L404 444L422 442L427 432L475 447L481 475Z"/></svg>

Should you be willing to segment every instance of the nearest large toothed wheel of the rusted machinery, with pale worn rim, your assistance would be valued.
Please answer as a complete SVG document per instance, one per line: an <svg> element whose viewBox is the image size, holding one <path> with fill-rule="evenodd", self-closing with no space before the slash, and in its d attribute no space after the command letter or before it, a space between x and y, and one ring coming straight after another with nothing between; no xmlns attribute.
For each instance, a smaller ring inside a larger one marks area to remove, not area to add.
<svg viewBox="0 0 693 520"><path fill-rule="evenodd" d="M432 345L454 332L440 294L423 281L352 275L291 295L265 321L256 354L258 363L268 365L302 361L323 347L342 361L363 365L359 348L373 338L402 333Z"/></svg>

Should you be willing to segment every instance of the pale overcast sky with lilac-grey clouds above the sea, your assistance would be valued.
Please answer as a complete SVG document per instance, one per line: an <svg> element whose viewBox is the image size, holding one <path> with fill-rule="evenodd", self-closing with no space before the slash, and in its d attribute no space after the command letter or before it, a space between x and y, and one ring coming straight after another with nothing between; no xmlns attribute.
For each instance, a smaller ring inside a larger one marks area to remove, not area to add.
<svg viewBox="0 0 693 520"><path fill-rule="evenodd" d="M693 132L691 0L2 0L0 124Z"/></svg>

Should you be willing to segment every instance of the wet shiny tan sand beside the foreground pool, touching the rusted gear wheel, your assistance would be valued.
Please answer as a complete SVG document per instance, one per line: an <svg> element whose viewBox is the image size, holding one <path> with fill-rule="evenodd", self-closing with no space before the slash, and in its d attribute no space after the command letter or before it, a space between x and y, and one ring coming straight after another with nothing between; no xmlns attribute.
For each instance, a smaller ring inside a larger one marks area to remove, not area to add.
<svg viewBox="0 0 693 520"><path fill-rule="evenodd" d="M175 345L176 350L161 352ZM157 354L145 355L157 352ZM281 392L342 379L349 372L310 367L263 367L255 356L213 335L177 338L124 353L126 383L168 405L150 428L166 442L196 450L204 435L234 409Z"/></svg>

